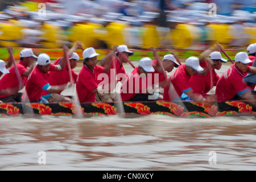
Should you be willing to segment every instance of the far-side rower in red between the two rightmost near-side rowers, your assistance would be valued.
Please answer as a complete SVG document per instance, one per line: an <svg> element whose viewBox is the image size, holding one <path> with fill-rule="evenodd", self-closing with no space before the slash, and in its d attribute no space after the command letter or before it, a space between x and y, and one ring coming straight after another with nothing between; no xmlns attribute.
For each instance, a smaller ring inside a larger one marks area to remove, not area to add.
<svg viewBox="0 0 256 182"><path fill-rule="evenodd" d="M194 75L191 77L189 84L191 85L193 92L202 95L204 98L214 98L214 96L208 94L208 92L217 85L220 76L217 75L214 69L219 70L222 63L226 63L226 59L222 58L221 53L214 51L210 53L209 59L213 61L213 65L209 65L207 61L203 60L200 66L203 69L208 69L204 75Z"/></svg>

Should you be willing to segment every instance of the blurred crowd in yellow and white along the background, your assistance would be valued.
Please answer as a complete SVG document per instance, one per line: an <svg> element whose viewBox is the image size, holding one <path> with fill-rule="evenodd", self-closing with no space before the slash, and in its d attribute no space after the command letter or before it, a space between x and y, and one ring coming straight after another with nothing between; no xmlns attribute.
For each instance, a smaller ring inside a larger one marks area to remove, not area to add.
<svg viewBox="0 0 256 182"><path fill-rule="evenodd" d="M246 48L256 42L255 2L1 1L0 47L61 48L79 40L94 48Z"/></svg>

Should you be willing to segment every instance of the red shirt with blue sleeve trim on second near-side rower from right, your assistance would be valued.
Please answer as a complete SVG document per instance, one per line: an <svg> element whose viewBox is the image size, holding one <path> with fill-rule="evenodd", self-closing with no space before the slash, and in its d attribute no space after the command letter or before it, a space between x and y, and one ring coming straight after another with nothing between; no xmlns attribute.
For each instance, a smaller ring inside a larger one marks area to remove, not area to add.
<svg viewBox="0 0 256 182"><path fill-rule="evenodd" d="M168 78L168 81L171 81L171 84L174 85L177 94L179 95L179 97L181 97L183 93L191 89L191 85L189 84L190 78L191 76L187 72L185 72L185 64L182 64L177 67L174 74L172 74L170 78ZM171 100L168 87L164 88L163 100Z"/></svg>

